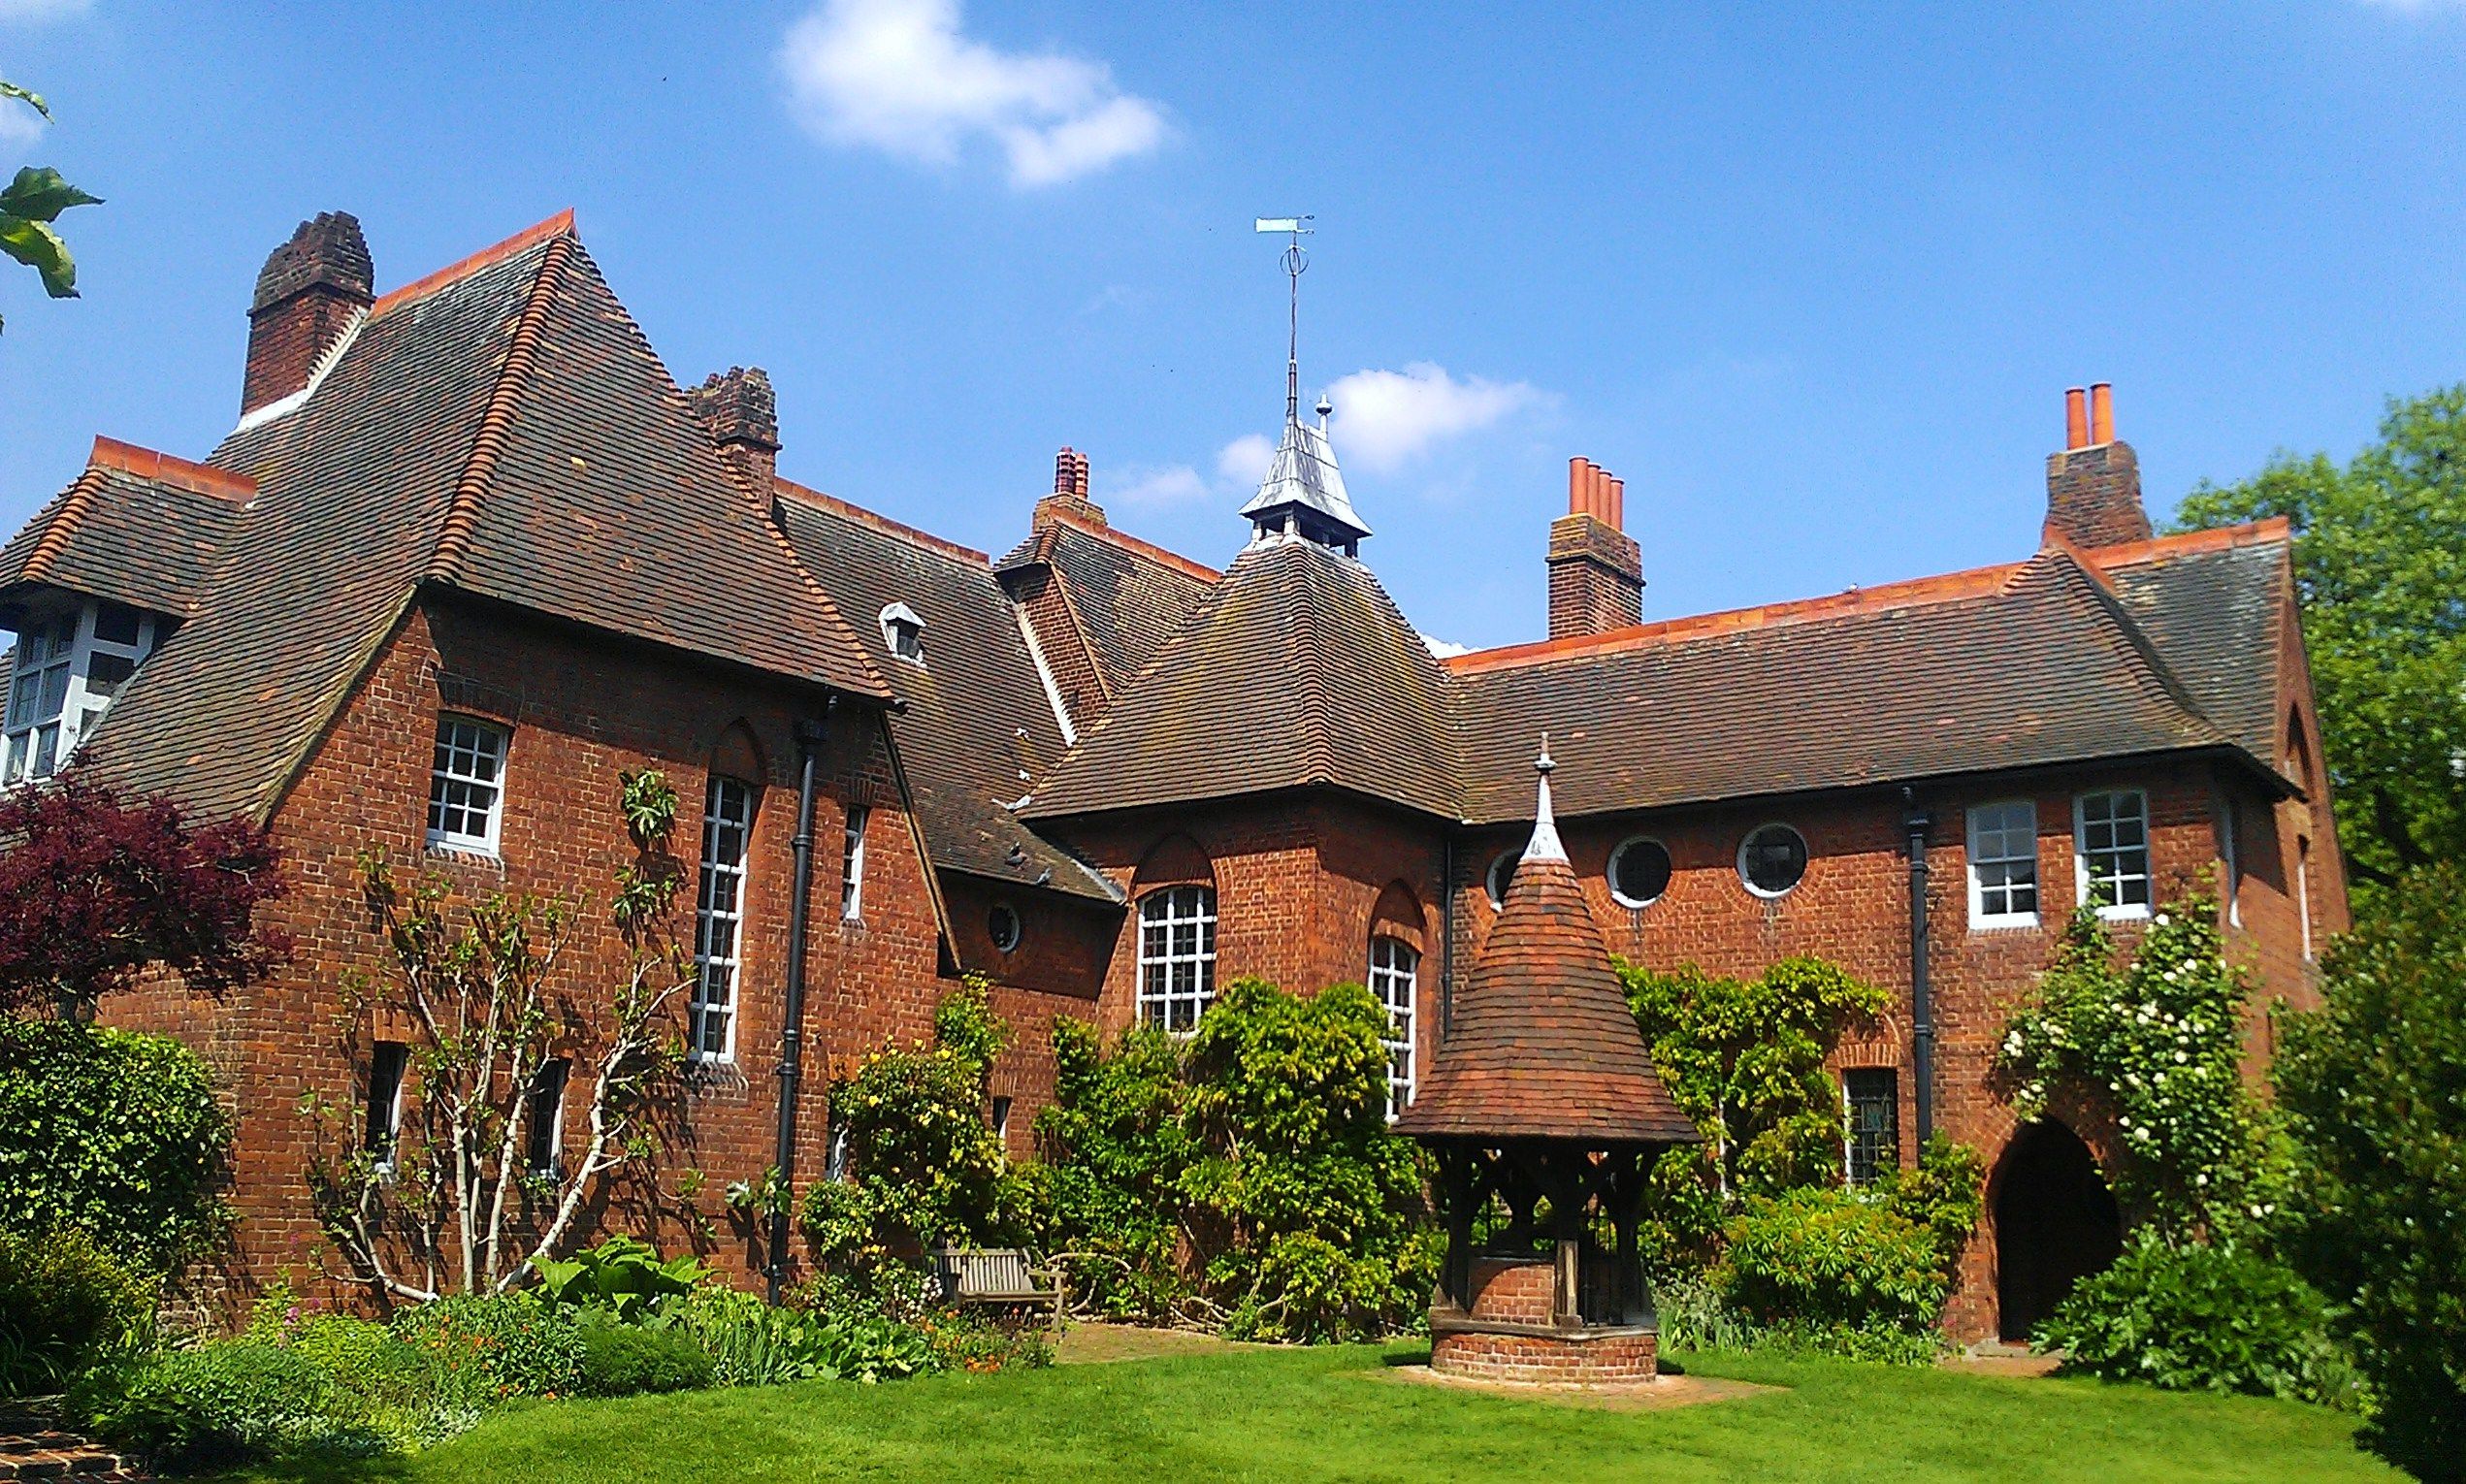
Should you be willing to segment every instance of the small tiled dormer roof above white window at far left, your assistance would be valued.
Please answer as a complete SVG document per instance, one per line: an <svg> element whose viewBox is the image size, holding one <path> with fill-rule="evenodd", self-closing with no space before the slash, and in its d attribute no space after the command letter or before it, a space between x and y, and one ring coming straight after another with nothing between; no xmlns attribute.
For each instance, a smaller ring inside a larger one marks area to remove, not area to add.
<svg viewBox="0 0 2466 1484"><path fill-rule="evenodd" d="M185 619L254 498L247 476L94 439L76 483L0 547L0 601L57 587Z"/></svg>

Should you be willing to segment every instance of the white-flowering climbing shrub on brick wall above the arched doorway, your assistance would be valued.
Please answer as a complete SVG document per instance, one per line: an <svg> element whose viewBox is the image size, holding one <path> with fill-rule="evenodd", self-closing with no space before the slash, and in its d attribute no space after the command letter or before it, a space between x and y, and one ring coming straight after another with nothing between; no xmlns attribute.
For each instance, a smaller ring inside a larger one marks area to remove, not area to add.
<svg viewBox="0 0 2466 1484"><path fill-rule="evenodd" d="M2242 1077L2247 996L2217 902L2165 905L2121 969L2106 922L2081 907L2039 1003L2005 1033L2012 1107L2034 1119L2062 1085L2086 1090L2123 1139L2116 1193L2128 1208L2168 1230L2244 1230L2274 1208L2266 1134Z"/></svg>

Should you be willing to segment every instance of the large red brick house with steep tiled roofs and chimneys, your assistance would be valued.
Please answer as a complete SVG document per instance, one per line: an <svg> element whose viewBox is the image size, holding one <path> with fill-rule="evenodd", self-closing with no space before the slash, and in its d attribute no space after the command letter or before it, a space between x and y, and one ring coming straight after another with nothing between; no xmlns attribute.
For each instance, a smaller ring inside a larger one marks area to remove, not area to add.
<svg viewBox="0 0 2466 1484"><path fill-rule="evenodd" d="M99 439L0 550L5 774L74 754L281 836L296 964L106 1008L222 1067L237 1270L269 1277L321 1260L301 1092L399 1095L390 1030L338 1025L380 949L363 848L473 892L597 887L619 772L663 769L703 880L671 1173L718 1188L772 1161L784 1102L799 1178L824 1168L821 1095L777 1075L792 974L816 1067L991 976L1018 1035L989 1117L1018 1151L1053 1016L1186 1025L1248 974L1366 979L1411 1097L1549 732L1615 952L1815 952L1896 991L1837 1058L1845 1161L1906 1161L1926 1127L1988 1154L1953 1311L1975 1336L2099 1235L2059 1220L2096 1198L2099 1131L2015 1136L1988 1087L2084 892L2128 932L2217 873L2234 952L2288 1003L2345 924L2286 528L2153 537L2103 387L2067 444L2027 560L1662 624L1620 483L1578 459L1551 636L1440 661L1359 557L1324 417L1287 417L1223 569L1115 530L1070 449L996 560L779 478L767 377L671 380L570 217L377 296L328 214L256 283L239 426L197 463ZM2264 1058L2266 1018L2251 1035ZM755 1260L676 1205L671 1183L607 1220Z"/></svg>

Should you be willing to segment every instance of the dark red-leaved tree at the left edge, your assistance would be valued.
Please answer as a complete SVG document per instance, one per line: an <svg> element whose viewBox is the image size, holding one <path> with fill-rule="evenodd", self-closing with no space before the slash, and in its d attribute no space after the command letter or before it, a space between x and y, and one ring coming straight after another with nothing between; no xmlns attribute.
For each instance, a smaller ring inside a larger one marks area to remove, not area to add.
<svg viewBox="0 0 2466 1484"><path fill-rule="evenodd" d="M289 952L256 922L284 895L281 853L247 818L200 826L170 799L74 774L0 796L0 1013L84 1016L148 969L219 993Z"/></svg>

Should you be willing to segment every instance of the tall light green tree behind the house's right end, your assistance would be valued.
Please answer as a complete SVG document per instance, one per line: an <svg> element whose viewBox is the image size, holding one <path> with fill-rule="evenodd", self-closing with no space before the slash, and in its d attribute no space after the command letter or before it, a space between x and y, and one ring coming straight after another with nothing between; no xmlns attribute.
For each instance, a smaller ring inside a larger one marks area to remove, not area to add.
<svg viewBox="0 0 2466 1484"><path fill-rule="evenodd" d="M2185 495L2182 528L2284 515L2338 843L2357 880L2466 853L2466 385L2392 399L2340 468L2281 454Z"/></svg>

